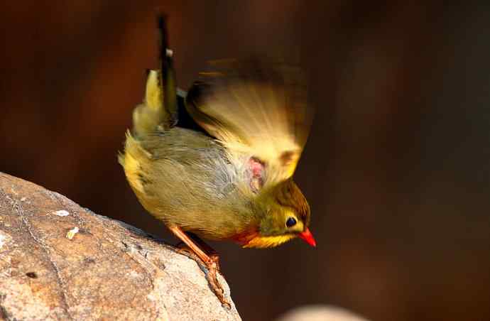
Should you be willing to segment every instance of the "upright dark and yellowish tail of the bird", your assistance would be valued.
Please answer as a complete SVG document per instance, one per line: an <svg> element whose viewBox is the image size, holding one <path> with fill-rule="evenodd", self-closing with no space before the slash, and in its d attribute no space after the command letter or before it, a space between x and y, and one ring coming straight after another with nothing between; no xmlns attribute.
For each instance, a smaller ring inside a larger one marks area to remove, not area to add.
<svg viewBox="0 0 490 321"><path fill-rule="evenodd" d="M158 16L158 29L160 70L148 70L145 98L133 111L131 132L136 138L152 133L158 126L163 129L173 127L178 120L173 53L168 49L166 21L162 15Z"/></svg>

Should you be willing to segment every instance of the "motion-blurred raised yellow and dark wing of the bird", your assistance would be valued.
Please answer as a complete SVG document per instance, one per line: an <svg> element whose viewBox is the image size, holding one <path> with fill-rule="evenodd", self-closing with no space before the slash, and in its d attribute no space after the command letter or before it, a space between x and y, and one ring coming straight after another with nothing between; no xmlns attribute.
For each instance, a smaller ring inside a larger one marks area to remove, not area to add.
<svg viewBox="0 0 490 321"><path fill-rule="evenodd" d="M269 181L290 178L312 118L303 72L257 58L210 65L187 94L192 118L232 153L266 167Z"/></svg>

